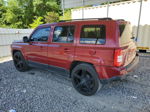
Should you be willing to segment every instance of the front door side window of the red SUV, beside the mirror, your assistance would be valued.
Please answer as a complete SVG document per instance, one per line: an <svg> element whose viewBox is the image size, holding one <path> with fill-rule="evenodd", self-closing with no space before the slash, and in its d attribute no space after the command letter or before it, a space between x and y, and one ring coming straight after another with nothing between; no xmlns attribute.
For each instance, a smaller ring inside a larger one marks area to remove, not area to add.
<svg viewBox="0 0 150 112"><path fill-rule="evenodd" d="M41 28L36 30L31 36L31 41L47 41L50 34L50 28Z"/></svg>

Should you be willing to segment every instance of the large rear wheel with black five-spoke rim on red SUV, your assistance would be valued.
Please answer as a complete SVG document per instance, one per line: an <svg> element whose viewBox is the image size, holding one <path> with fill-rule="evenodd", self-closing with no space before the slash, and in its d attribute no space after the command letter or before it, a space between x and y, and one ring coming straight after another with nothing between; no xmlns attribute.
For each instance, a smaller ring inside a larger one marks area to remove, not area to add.
<svg viewBox="0 0 150 112"><path fill-rule="evenodd" d="M97 93L102 84L94 67L90 64L79 64L71 73L74 88L82 95L91 96Z"/></svg>

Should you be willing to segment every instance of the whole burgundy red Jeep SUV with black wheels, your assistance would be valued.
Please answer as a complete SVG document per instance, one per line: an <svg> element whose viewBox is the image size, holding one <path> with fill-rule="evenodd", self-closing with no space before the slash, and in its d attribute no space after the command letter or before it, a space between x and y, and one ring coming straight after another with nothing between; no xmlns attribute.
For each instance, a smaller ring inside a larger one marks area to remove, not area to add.
<svg viewBox="0 0 150 112"><path fill-rule="evenodd" d="M101 88L100 80L125 75L139 62L130 23L111 18L40 25L11 48L17 70L69 72L74 88L87 96Z"/></svg>

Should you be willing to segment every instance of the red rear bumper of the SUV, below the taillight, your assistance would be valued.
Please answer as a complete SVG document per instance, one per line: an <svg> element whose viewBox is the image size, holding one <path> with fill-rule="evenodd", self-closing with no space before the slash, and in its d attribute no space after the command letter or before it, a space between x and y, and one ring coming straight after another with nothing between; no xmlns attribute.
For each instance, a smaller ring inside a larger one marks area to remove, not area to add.
<svg viewBox="0 0 150 112"><path fill-rule="evenodd" d="M100 79L110 79L128 74L137 67L138 63L139 55L137 54L134 60L125 67L97 66L96 71Z"/></svg>

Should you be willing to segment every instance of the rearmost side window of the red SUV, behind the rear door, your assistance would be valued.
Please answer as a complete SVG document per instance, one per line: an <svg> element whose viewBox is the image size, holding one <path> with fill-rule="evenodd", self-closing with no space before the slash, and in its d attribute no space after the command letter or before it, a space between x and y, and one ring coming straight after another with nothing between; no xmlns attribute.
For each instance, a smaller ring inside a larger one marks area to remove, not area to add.
<svg viewBox="0 0 150 112"><path fill-rule="evenodd" d="M82 27L81 44L105 44L106 28L104 25L86 25Z"/></svg>

